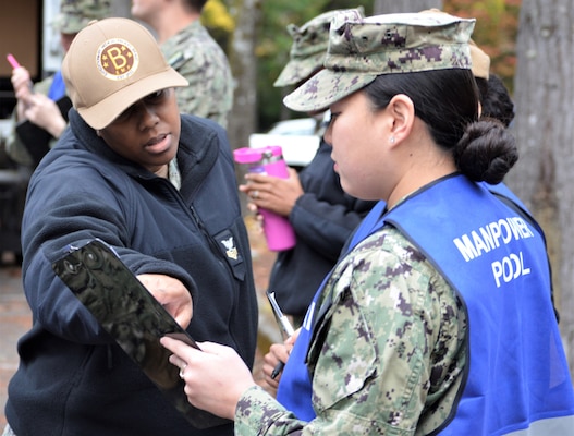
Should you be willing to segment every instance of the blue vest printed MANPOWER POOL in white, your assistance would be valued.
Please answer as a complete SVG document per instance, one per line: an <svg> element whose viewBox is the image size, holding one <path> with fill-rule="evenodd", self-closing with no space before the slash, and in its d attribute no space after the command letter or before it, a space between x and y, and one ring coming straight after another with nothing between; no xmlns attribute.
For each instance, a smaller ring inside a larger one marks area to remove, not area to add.
<svg viewBox="0 0 574 436"><path fill-rule="evenodd" d="M525 428L528 435L546 435L550 428L552 435L571 434L574 391L550 300L545 241L530 217L498 199L492 190L453 175L382 218L381 203L362 222L349 250L392 225L427 255L466 305L466 385L452 421L436 434L525 435ZM278 391L279 401L306 421L315 416L305 366L312 317L325 311L309 307Z"/></svg>

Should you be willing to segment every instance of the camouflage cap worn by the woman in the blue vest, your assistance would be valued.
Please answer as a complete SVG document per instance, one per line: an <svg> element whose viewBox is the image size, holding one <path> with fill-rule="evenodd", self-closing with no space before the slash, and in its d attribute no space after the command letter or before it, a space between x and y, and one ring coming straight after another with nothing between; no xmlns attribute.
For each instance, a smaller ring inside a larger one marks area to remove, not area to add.
<svg viewBox="0 0 574 436"><path fill-rule="evenodd" d="M399 13L362 19L337 15L329 32L325 69L283 102L309 112L363 88L381 74L471 69L474 19Z"/></svg>

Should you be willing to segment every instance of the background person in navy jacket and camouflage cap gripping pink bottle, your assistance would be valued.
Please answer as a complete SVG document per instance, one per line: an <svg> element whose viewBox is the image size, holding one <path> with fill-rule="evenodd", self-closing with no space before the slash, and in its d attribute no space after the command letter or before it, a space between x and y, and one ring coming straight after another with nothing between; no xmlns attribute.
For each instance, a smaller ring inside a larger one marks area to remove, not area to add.
<svg viewBox="0 0 574 436"><path fill-rule="evenodd" d="M363 9L356 11L363 14ZM322 70L329 25L338 12L325 12L302 26L288 26L293 38L290 59L273 86L297 86ZM252 209L264 207L288 217L295 230L296 244L278 253L268 286L284 314L293 318L295 328L301 326L313 295L334 266L343 244L375 205L341 187L331 147L322 136L326 113L308 112L317 119L320 143L313 160L300 173L290 169L289 179L249 173L245 175L246 183L240 185Z"/></svg>

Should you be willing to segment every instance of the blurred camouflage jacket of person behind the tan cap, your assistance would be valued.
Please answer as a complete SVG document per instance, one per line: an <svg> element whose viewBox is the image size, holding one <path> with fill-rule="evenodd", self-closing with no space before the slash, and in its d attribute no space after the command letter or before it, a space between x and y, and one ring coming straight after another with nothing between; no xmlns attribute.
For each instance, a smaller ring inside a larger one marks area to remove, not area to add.
<svg viewBox="0 0 574 436"><path fill-rule="evenodd" d="M163 43L161 50L168 63L190 82L178 89L181 112L209 118L227 128L233 77L225 53L207 29L197 20Z"/></svg>

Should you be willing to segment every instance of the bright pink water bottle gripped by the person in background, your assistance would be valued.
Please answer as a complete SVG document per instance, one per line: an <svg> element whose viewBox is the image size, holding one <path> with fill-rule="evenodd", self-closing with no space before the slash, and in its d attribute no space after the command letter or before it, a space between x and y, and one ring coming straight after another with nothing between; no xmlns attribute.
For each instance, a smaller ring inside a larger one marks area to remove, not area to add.
<svg viewBox="0 0 574 436"><path fill-rule="evenodd" d="M237 164L246 165L249 172L289 178L283 152L279 145L237 148L233 152L233 158ZM264 216L264 233L269 250L279 252L292 249L295 245L295 232L289 219L265 208L260 208L259 213Z"/></svg>

